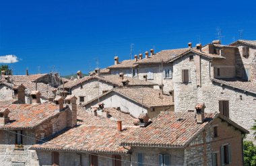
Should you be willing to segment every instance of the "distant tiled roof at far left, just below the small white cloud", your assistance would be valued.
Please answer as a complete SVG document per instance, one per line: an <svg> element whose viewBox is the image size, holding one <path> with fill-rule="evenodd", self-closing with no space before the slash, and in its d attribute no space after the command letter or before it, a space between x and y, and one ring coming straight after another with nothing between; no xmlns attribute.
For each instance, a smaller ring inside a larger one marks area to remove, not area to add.
<svg viewBox="0 0 256 166"><path fill-rule="evenodd" d="M38 75L5 75L4 77L10 77L10 79L13 81L13 82L34 82L36 81L37 79L40 79L40 77L44 77L45 75L48 75L48 74L38 74Z"/></svg>

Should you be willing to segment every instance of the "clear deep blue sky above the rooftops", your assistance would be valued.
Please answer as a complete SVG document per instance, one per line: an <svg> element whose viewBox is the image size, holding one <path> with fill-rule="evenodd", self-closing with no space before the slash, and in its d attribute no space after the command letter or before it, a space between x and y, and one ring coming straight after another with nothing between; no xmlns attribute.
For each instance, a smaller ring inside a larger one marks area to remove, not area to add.
<svg viewBox="0 0 256 166"><path fill-rule="evenodd" d="M61 75L113 65L154 48L256 40L256 1L1 1L0 56L13 54L14 74ZM200 36L200 37L199 37Z"/></svg>

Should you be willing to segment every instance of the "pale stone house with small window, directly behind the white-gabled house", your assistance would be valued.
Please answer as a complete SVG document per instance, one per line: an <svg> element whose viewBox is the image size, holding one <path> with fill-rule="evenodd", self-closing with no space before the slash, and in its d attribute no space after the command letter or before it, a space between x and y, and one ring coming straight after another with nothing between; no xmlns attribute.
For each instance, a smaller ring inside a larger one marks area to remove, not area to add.
<svg viewBox="0 0 256 166"><path fill-rule="evenodd" d="M72 94L77 97L77 104L86 103L96 97L117 87L154 87L156 83L133 79L121 75L88 76L75 81L69 81L59 89L64 89L65 94Z"/></svg>

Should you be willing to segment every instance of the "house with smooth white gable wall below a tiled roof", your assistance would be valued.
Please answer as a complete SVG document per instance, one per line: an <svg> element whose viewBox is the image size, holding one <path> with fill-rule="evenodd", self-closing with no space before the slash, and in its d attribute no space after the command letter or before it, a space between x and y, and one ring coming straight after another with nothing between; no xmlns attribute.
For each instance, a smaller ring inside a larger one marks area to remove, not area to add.
<svg viewBox="0 0 256 166"><path fill-rule="evenodd" d="M150 118L154 118L160 112L174 111L174 103L170 95L164 95L162 91L149 87L113 89L82 106L86 110L91 110L91 108L98 108L99 105L103 105L104 108L119 108L135 118L142 113L147 113Z"/></svg>

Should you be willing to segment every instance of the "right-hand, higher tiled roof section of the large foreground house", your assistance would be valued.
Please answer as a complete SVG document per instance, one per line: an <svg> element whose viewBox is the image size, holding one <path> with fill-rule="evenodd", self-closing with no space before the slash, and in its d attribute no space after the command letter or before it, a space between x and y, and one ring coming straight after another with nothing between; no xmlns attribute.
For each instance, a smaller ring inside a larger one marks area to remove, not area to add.
<svg viewBox="0 0 256 166"><path fill-rule="evenodd" d="M133 136L122 144L146 147L185 147L214 118L221 118L238 130L248 133L228 118L220 114L205 114L202 124L197 124L194 112L161 112L146 128L138 128Z"/></svg>

